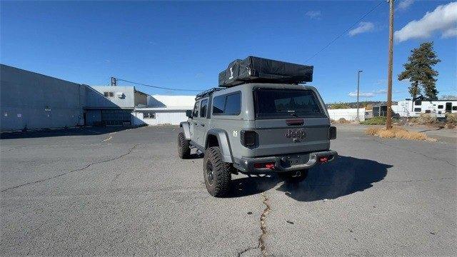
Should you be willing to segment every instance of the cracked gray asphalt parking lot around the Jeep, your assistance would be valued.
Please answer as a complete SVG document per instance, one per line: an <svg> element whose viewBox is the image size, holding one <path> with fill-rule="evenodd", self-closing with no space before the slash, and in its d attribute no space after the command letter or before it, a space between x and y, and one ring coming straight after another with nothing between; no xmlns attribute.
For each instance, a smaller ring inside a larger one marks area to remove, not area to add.
<svg viewBox="0 0 457 257"><path fill-rule="evenodd" d="M457 254L455 131L403 141L338 126L336 161L297 186L233 176L230 198L206 192L201 158L178 158L178 131L2 135L0 255Z"/></svg>

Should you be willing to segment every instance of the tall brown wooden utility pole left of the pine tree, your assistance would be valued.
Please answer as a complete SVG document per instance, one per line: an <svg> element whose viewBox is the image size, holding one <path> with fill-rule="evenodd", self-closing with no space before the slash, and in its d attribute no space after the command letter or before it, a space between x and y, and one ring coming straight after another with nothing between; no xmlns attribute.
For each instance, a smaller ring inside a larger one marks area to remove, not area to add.
<svg viewBox="0 0 457 257"><path fill-rule="evenodd" d="M389 5L389 29L388 29L386 129L392 129L393 0L388 0L388 5Z"/></svg>

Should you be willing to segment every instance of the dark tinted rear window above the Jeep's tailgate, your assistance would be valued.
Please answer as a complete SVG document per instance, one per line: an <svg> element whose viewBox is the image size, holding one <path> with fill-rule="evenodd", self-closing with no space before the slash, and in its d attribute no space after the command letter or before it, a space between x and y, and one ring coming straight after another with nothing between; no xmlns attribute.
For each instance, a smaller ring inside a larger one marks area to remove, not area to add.
<svg viewBox="0 0 457 257"><path fill-rule="evenodd" d="M260 119L325 116L311 90L256 89L255 96Z"/></svg>

